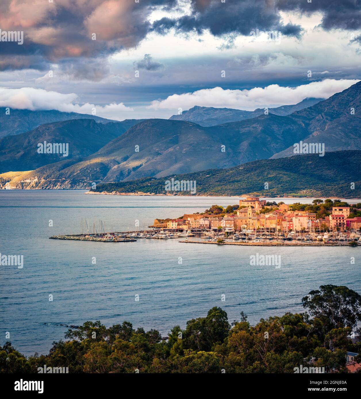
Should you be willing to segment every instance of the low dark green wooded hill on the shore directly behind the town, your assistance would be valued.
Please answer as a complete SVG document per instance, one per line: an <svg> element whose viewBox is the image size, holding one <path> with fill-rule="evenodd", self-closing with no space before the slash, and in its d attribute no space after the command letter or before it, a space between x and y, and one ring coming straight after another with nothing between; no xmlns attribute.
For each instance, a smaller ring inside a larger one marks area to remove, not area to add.
<svg viewBox="0 0 361 399"><path fill-rule="evenodd" d="M228 169L104 183L91 192L190 195L186 191L165 190L165 182L174 178L195 181L195 195L198 196L240 196L248 193L262 197L360 198L360 157L361 151L328 152L324 157L317 154L294 155L248 162ZM355 189L351 188L351 182L355 183Z"/></svg>

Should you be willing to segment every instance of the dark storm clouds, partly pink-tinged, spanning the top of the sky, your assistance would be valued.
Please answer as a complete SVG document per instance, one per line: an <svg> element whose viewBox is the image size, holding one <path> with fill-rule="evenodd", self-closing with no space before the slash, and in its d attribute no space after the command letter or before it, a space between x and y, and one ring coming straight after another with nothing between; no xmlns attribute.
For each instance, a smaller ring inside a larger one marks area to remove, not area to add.
<svg viewBox="0 0 361 399"><path fill-rule="evenodd" d="M192 0L189 15L149 22L153 10L180 11L184 4L178 0L2 0L0 28L23 31L24 44L0 42L0 69L46 69L48 62L65 64L66 60L75 68L74 59L102 59L136 47L149 32L165 34L171 28L182 34L209 30L228 38L222 48L232 47L237 35L249 36L256 29L299 38L301 26L284 25L280 11L321 12L326 30L361 28L361 0ZM145 69L159 69L143 62ZM85 75L92 73L85 71ZM99 73L95 71L96 76Z"/></svg>

